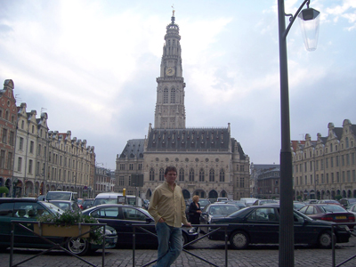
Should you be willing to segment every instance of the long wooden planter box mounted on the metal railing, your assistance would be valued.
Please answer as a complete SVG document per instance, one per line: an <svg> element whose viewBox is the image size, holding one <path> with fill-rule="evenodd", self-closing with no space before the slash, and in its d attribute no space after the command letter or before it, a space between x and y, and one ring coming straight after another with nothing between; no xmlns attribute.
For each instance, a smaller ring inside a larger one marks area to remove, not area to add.
<svg viewBox="0 0 356 267"><path fill-rule="evenodd" d="M55 226L53 224L44 224L41 223L41 230L38 226L38 223L34 224L34 232L44 237L64 237L64 238L73 238L77 237L85 231L90 231L90 225L81 225L81 231L79 230L79 225L72 226ZM86 233L81 238L89 238L90 233Z"/></svg>

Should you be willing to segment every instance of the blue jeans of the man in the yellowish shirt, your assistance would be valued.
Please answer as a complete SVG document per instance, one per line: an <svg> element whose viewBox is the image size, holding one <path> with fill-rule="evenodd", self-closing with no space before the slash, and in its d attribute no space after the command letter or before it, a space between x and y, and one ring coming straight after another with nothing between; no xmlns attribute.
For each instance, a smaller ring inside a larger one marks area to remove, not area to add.
<svg viewBox="0 0 356 267"><path fill-rule="evenodd" d="M168 267L182 252L182 229L157 223L158 260L155 266Z"/></svg>

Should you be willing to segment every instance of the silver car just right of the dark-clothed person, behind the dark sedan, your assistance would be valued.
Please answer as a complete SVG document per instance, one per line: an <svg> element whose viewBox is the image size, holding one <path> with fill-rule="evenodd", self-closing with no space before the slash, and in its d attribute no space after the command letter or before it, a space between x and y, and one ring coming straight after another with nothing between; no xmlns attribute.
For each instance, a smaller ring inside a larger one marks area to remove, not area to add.
<svg viewBox="0 0 356 267"><path fill-rule="evenodd" d="M210 224L213 218L221 218L239 210L239 206L233 204L215 202L206 206L200 214L201 224ZM200 231L207 232L206 227L200 227Z"/></svg>

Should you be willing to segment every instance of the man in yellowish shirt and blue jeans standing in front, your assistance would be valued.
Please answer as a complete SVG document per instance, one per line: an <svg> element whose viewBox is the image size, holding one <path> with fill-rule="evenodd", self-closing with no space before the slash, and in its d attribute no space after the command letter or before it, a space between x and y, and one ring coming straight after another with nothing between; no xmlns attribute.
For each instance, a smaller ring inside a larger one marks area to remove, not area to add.
<svg viewBox="0 0 356 267"><path fill-rule="evenodd" d="M191 227L185 217L182 189L175 183L177 169L167 166L165 182L153 191L149 213L155 219L158 235L157 267L168 267L182 252L182 223Z"/></svg>

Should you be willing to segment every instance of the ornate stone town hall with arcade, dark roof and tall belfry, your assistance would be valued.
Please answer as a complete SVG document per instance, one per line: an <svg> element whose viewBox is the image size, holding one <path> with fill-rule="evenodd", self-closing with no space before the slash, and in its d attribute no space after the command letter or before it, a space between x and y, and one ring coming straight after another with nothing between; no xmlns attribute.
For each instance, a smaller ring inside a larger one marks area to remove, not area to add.
<svg viewBox="0 0 356 267"><path fill-rule="evenodd" d="M166 26L166 44L157 78L154 127L145 139L129 140L117 155L115 191L135 194L132 174L143 174L140 197L150 198L164 181L166 166L176 166L176 182L184 198L249 197L249 158L225 128L186 128L181 36L172 22Z"/></svg>

